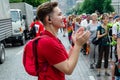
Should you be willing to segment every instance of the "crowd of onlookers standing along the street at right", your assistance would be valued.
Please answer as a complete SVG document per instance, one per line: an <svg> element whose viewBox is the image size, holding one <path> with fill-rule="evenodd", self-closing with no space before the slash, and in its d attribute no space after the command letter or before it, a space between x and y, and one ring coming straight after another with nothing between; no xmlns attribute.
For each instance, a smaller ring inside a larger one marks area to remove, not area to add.
<svg viewBox="0 0 120 80"><path fill-rule="evenodd" d="M82 14L69 15L67 18L68 38L72 45L72 32L77 31L80 27L90 31L89 40L83 45L82 52L88 55L90 59L90 69L97 69L97 76L101 76L102 61L104 61L104 70L106 76L112 76L115 79L116 68L119 68L120 63L120 16L115 13L99 14ZM93 38L97 36L100 43L95 45L92 43ZM108 72L108 65L111 65L111 75ZM117 67L116 67L117 65ZM119 70L119 69L117 69ZM120 76L120 73L117 73ZM118 80L120 77L118 78ZM117 80L117 79L116 79Z"/></svg>

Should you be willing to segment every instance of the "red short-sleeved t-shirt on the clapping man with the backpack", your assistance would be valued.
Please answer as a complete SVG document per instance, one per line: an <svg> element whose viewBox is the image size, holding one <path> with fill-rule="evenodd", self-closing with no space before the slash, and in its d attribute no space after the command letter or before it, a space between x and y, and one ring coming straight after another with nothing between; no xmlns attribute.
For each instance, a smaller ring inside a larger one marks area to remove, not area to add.
<svg viewBox="0 0 120 80"><path fill-rule="evenodd" d="M50 32L45 30L42 34L47 36L38 41L38 80L65 80L65 74L53 66L68 58L65 47Z"/></svg>

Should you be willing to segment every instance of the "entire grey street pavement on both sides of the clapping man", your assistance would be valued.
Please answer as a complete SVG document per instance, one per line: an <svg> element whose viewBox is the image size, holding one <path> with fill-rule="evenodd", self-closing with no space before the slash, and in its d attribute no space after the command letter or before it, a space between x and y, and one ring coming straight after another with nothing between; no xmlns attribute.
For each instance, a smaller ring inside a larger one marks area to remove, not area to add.
<svg viewBox="0 0 120 80"><path fill-rule="evenodd" d="M59 31L58 37L64 44L66 50L69 50L70 43L67 32L66 37L63 37L63 31ZM28 75L23 68L23 47L24 46L16 45L6 48L6 60L0 65L0 80L37 80L37 77ZM102 70L101 77L97 77L96 69L89 69L88 56L89 55L83 55L83 53L80 52L77 66L71 75L66 75L66 80L111 80L111 77L104 75L104 70Z"/></svg>

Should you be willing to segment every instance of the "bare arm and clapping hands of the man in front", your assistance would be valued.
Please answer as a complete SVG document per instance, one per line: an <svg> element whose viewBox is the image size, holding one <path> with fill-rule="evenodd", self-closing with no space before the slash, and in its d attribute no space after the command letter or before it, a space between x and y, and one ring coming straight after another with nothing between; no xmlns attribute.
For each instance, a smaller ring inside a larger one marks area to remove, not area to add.
<svg viewBox="0 0 120 80"><path fill-rule="evenodd" d="M61 72L70 75L78 61L79 53L81 46L86 43L90 36L89 31L82 31L82 28L80 28L74 35L74 47L70 50L70 56L67 60L60 62L58 64L55 64L54 67L60 70Z"/></svg>

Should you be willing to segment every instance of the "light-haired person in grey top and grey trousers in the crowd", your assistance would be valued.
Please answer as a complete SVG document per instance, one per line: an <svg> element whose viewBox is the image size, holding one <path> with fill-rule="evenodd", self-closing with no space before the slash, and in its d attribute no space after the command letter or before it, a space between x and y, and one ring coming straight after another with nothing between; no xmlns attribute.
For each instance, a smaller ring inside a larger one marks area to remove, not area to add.
<svg viewBox="0 0 120 80"><path fill-rule="evenodd" d="M96 59L98 56L98 46L94 45L92 43L92 39L96 36L97 33L97 27L100 26L100 22L97 20L98 16L96 13L93 13L91 15L91 23L88 24L87 30L91 32L89 41L87 42L87 45L90 46L90 53L89 53L89 59L90 59L90 69L94 69L94 65L96 63Z"/></svg>

